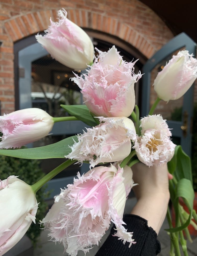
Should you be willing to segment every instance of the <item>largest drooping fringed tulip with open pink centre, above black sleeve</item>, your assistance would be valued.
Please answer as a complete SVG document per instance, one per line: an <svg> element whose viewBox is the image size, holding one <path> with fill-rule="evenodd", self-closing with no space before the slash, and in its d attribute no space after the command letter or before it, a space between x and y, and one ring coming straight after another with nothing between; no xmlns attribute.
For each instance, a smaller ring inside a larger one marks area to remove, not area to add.
<svg viewBox="0 0 197 256"><path fill-rule="evenodd" d="M132 233L122 226L126 202L122 176L123 168L95 167L82 176L78 173L73 185L55 197L42 223L51 239L62 242L69 255L76 256L79 250L89 252L93 244L98 245L110 221L116 226L115 236L123 243L129 242L129 246L135 243Z"/></svg>

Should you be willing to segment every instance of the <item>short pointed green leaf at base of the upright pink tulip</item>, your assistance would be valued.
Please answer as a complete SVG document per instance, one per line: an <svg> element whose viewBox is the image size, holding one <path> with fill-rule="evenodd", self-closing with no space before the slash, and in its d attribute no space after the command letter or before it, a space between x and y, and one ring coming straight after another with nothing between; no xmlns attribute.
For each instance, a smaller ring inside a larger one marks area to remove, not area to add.
<svg viewBox="0 0 197 256"><path fill-rule="evenodd" d="M89 126L96 126L97 123L93 116L90 114L86 105L60 105L70 115L75 116L78 120L81 120Z"/></svg>

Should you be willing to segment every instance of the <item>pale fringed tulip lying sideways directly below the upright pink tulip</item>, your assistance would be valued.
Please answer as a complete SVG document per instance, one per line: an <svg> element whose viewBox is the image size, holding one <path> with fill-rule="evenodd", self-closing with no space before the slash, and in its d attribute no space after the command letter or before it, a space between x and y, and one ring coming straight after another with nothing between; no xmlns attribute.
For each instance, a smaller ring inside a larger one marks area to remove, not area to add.
<svg viewBox="0 0 197 256"><path fill-rule="evenodd" d="M72 146L72 152L65 157L85 160L94 167L98 163L120 161L131 152L131 140L136 140L133 122L127 117L100 118L104 121L98 126L88 128L78 134L78 142Z"/></svg>

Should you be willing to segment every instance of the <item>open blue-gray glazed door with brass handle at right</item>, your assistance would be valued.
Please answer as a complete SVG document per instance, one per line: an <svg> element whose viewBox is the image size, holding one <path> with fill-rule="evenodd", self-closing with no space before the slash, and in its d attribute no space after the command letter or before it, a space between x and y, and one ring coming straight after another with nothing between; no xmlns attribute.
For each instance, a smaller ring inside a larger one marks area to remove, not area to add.
<svg viewBox="0 0 197 256"><path fill-rule="evenodd" d="M171 59L172 55L176 55L179 50L188 50L190 54L195 56L196 44L185 33L171 39L159 51L157 51L151 59L149 59L142 73L142 109L141 116L146 116L156 99L156 93L152 87L154 79L162 66ZM193 91L192 86L187 93L178 100L170 100L168 103L160 101L155 113L161 113L167 119L168 126L172 128L172 138L175 144L180 144L183 150L191 156L191 138L192 138L192 112L193 112Z"/></svg>

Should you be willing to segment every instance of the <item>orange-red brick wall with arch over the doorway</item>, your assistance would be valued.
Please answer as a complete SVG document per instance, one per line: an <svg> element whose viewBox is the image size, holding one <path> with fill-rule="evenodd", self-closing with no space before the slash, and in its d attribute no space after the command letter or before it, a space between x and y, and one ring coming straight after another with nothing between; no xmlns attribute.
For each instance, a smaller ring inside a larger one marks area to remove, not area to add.
<svg viewBox="0 0 197 256"><path fill-rule="evenodd" d="M79 26L115 35L147 58L173 37L162 20L137 0L0 0L2 113L14 110L14 42L45 30L62 7Z"/></svg>

